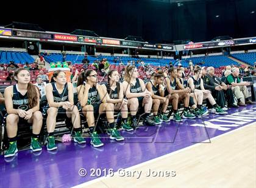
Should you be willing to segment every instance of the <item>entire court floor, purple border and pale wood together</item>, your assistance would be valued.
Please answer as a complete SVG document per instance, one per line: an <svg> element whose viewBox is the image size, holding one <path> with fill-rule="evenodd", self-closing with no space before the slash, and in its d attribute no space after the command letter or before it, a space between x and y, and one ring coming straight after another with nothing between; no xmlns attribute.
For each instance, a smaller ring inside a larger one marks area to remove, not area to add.
<svg viewBox="0 0 256 188"><path fill-rule="evenodd" d="M227 112L105 135L98 149L88 138L1 155L0 187L255 187L256 105Z"/></svg>

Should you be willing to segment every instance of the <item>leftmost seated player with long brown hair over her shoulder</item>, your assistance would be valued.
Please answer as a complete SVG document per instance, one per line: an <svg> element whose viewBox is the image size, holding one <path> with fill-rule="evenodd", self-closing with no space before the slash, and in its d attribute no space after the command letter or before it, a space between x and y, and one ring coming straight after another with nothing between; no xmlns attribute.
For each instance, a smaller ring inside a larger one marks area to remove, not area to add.
<svg viewBox="0 0 256 188"><path fill-rule="evenodd" d="M30 83L30 73L24 68L16 69L14 78L15 86L9 86L4 90L5 123L9 138L9 149L4 157L14 156L18 152L16 135L18 123L32 123L32 138L30 149L33 152L41 150L38 142L39 133L43 124L42 114L39 111L40 93L36 86Z"/></svg>

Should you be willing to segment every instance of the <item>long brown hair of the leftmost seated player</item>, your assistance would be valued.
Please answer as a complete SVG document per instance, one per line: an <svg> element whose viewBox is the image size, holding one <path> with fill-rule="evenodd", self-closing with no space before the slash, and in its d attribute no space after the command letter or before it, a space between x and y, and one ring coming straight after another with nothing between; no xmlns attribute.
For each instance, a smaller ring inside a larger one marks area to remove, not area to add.
<svg viewBox="0 0 256 188"><path fill-rule="evenodd" d="M27 69L19 68L19 69L15 70L13 75L18 78L18 73L20 73L21 70L26 70L27 72L29 72ZM18 80L16 80L16 82L18 83ZM38 99L38 97L40 97L40 91L39 91L38 87L34 86L33 84L31 84L29 82L27 84L27 98L29 99L29 109L32 109L35 106L37 106L37 103L38 103L37 99Z"/></svg>

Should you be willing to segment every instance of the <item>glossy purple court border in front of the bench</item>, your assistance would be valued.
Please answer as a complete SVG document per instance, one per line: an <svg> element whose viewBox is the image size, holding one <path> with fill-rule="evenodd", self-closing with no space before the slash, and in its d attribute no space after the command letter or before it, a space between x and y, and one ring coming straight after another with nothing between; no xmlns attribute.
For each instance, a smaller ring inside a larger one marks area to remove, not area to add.
<svg viewBox="0 0 256 188"><path fill-rule="evenodd" d="M229 110L229 115L243 110L256 111L256 105ZM210 114L204 121L221 115ZM231 120L230 120L231 121ZM235 121L235 120L234 120ZM236 120L237 121L237 120ZM228 124L211 121L213 124ZM58 144L56 152L48 152L43 147L41 153L30 150L18 152L12 159L0 156L0 187L71 187L98 178L79 176L79 169L118 169L135 166L158 156L183 149L196 143L210 144L210 138L222 135L254 123L255 120L223 131L191 124L202 124L202 119L185 119L182 123L163 123L162 126L141 127L136 133L121 132L126 141L110 141L102 138L104 146L94 149L87 144L79 146L70 143ZM40 155L38 155L40 154ZM10 161L8 161L10 160Z"/></svg>

